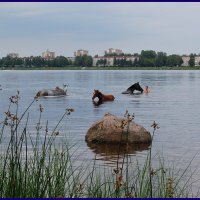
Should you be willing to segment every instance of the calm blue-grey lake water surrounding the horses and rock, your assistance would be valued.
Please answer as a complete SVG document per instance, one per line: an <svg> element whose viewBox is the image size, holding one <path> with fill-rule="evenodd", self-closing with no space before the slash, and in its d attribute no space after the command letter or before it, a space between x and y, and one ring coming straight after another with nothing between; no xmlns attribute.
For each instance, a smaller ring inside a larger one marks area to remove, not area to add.
<svg viewBox="0 0 200 200"><path fill-rule="evenodd" d="M148 95L123 95L135 82L150 88ZM81 161L95 158L100 165L114 166L116 148L90 146L85 142L88 128L107 112L123 117L126 110L134 113L135 122L151 133L155 120L160 129L153 141L153 154L161 154L167 162L184 168L194 157L193 168L198 168L200 151L200 71L0 71L0 121L9 105L9 97L20 92L20 112L32 101L36 92L44 88L62 87L68 84L68 95L60 98L39 99L30 110L29 131L35 131L39 118L39 104L44 107L42 123L48 120L53 129L66 108L73 108L61 126L59 137L67 137L76 143L76 154ZM114 102L98 107L92 103L92 93L99 89L111 93ZM148 146L133 147L130 154L144 158ZM199 174L197 171L196 173Z"/></svg>

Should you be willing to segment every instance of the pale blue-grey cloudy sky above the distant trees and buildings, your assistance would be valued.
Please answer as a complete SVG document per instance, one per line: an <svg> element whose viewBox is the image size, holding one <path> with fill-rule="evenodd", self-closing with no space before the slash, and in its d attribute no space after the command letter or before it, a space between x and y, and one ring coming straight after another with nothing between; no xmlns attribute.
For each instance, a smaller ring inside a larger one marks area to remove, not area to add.
<svg viewBox="0 0 200 200"><path fill-rule="evenodd" d="M200 53L198 3L2 3L0 57L38 56L47 49L73 56L110 47L169 54Z"/></svg>

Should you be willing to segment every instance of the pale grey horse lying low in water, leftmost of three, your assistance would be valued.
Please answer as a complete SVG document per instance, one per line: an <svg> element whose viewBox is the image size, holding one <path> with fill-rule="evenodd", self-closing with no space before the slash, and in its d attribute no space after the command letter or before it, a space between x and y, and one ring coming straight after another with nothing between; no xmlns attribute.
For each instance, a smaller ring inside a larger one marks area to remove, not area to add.
<svg viewBox="0 0 200 200"><path fill-rule="evenodd" d="M67 85L63 85L63 89L58 86L55 89L43 89L37 92L36 97L47 97L47 96L64 96L67 93Z"/></svg>

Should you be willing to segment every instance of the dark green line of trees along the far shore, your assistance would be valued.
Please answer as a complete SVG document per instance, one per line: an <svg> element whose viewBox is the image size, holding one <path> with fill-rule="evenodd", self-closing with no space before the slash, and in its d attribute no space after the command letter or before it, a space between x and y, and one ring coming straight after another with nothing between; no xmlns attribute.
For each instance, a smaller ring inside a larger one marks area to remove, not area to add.
<svg viewBox="0 0 200 200"><path fill-rule="evenodd" d="M131 54L105 54L108 56L115 56L114 66L119 67L174 67L181 66L183 64L182 57L176 54L167 55L164 52L155 52L153 50L142 50L141 54L134 54L136 59L134 61L126 59L126 56L132 56ZM120 58L120 56L123 58ZM195 66L196 54L190 54L189 66ZM98 57L96 55L96 57ZM25 58L12 58L10 56L0 59L0 68L34 68L34 67L65 67L65 66L82 66L91 67L93 65L93 58L91 56L77 56L72 62L64 56L57 56L54 59L44 59L41 56L31 56ZM96 63L97 66L108 66L105 58L100 59Z"/></svg>

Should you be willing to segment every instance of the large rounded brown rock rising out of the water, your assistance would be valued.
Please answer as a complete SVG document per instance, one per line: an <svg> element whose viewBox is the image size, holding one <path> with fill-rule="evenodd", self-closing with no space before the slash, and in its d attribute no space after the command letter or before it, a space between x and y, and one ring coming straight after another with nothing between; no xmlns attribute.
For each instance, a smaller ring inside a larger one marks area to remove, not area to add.
<svg viewBox="0 0 200 200"><path fill-rule="evenodd" d="M151 143L152 140L151 134L143 126L110 113L89 128L85 139L100 143Z"/></svg>

